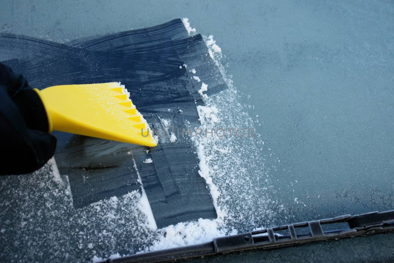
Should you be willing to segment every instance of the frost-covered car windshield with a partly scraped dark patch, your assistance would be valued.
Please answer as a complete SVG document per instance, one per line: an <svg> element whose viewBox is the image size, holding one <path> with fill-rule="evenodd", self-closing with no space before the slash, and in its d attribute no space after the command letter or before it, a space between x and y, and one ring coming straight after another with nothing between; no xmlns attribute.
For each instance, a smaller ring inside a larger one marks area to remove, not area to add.
<svg viewBox="0 0 394 263"><path fill-rule="evenodd" d="M393 14L2 3L0 62L38 89L120 82L159 144L54 131L43 168L0 177L0 258L100 261L394 209Z"/></svg>

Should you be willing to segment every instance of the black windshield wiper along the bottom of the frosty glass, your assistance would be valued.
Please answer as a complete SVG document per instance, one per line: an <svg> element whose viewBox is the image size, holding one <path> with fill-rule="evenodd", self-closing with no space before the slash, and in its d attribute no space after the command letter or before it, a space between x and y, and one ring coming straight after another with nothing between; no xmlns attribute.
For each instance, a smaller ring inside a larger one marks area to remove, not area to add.
<svg viewBox="0 0 394 263"><path fill-rule="evenodd" d="M394 232L394 210L355 216L342 215L334 218L266 228L239 235L219 237L203 244L135 254L117 259L108 259L104 262L173 261L175 259L211 256L242 250L268 250L310 242L338 240L388 232Z"/></svg>

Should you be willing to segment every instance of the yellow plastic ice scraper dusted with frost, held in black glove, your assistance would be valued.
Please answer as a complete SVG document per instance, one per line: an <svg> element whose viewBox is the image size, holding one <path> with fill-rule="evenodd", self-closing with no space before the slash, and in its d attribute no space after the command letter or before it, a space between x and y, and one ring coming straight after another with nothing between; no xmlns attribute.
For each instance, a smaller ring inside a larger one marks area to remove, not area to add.
<svg viewBox="0 0 394 263"><path fill-rule="evenodd" d="M118 82L34 89L44 104L49 132L71 132L156 146L149 126ZM149 133L149 134L148 134Z"/></svg>

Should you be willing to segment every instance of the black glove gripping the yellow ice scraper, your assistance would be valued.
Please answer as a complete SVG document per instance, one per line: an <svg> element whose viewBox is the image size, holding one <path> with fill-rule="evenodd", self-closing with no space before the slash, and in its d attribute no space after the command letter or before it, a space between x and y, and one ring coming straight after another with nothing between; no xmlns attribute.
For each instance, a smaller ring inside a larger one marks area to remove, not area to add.
<svg viewBox="0 0 394 263"><path fill-rule="evenodd" d="M0 63L0 174L23 174L41 168L54 154L56 138L38 94L22 75Z"/></svg>

